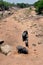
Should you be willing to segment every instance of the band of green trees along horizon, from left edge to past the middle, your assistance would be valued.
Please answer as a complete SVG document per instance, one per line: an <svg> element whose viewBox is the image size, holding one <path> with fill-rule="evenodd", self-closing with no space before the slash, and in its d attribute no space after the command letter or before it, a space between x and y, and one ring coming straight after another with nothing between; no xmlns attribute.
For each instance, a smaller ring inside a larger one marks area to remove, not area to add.
<svg viewBox="0 0 43 65"><path fill-rule="evenodd" d="M9 7L12 7L12 6L16 6L16 7L19 7L19 8L26 8L26 7L29 7L30 4L28 4L28 3L14 4L14 3L10 3L10 2L0 0L0 8L1 8L1 10L8 10Z"/></svg>

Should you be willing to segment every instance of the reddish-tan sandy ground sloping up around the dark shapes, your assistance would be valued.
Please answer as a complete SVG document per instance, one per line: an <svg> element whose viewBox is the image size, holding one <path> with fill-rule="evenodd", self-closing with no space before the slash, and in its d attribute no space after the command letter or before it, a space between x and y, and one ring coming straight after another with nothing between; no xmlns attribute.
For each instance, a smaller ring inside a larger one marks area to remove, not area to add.
<svg viewBox="0 0 43 65"><path fill-rule="evenodd" d="M26 12L25 9L20 10L0 20L0 39L5 41L4 44L13 47L10 55L0 53L0 65L43 65L43 17L25 18L24 11ZM24 19L20 19L20 16ZM24 30L28 31L29 54L27 55L18 54L16 50L18 45L25 46L22 41Z"/></svg>

